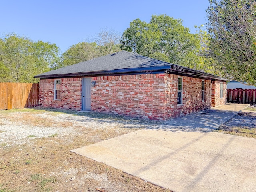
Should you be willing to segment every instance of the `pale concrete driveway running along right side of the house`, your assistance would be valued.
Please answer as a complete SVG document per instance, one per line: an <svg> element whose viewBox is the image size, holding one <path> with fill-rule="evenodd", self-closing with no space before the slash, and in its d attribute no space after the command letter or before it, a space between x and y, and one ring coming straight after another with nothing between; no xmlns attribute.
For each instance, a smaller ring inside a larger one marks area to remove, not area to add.
<svg viewBox="0 0 256 192"><path fill-rule="evenodd" d="M210 131L235 114L206 110L72 152L175 192L252 192L256 139Z"/></svg>

